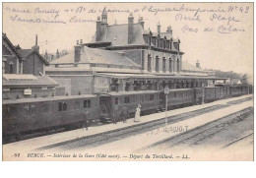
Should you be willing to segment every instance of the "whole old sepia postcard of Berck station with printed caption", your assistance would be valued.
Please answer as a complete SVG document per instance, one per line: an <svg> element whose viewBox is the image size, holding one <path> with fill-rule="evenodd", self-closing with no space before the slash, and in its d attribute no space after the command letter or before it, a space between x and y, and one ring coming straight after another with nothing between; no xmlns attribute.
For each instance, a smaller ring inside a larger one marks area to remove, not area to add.
<svg viewBox="0 0 256 178"><path fill-rule="evenodd" d="M3 3L3 160L253 160L253 3Z"/></svg>

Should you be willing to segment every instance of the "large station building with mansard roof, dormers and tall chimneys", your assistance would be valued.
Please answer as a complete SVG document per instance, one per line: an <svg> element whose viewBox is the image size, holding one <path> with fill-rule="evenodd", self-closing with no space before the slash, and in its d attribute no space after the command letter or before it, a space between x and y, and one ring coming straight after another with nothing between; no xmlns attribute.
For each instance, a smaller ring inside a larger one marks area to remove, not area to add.
<svg viewBox="0 0 256 178"><path fill-rule="evenodd" d="M77 40L72 52L50 62L46 75L71 95L201 88L223 80L200 69L199 62L193 66L182 61L181 41L173 37L171 27L161 31L159 23L153 32L144 25L142 17L135 23L132 14L127 24L108 25L103 12L93 40Z"/></svg>

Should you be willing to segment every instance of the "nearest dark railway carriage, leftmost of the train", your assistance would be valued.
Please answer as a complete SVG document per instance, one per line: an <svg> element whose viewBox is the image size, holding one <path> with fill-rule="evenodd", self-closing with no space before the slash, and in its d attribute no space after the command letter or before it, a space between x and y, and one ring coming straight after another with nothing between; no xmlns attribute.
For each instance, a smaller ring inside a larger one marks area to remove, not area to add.
<svg viewBox="0 0 256 178"><path fill-rule="evenodd" d="M98 98L93 94L3 100L3 133L6 135L78 126L98 120Z"/></svg>

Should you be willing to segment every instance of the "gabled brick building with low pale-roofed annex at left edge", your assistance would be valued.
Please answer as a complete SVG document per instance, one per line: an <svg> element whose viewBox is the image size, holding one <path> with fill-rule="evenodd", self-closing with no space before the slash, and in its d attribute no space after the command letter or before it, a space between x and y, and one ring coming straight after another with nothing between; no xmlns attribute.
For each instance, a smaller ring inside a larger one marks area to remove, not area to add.
<svg viewBox="0 0 256 178"><path fill-rule="evenodd" d="M5 33L2 38L3 99L55 95L58 84L45 76L49 63L38 52L37 36L32 49L14 46Z"/></svg>

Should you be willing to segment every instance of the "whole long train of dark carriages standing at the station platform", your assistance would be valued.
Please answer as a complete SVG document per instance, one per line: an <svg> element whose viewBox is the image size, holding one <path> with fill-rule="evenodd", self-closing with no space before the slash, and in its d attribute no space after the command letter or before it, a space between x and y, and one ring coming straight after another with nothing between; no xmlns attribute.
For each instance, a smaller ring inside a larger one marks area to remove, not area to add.
<svg viewBox="0 0 256 178"><path fill-rule="evenodd" d="M167 109L251 92L252 87L248 85L169 89ZM142 115L160 112L165 109L165 96L163 90L138 90L3 100L3 138L17 137L19 140L20 136L30 133L78 128L85 122L82 113L86 111L91 125L111 122L112 110L116 106L119 112L126 106L130 117L138 104Z"/></svg>

